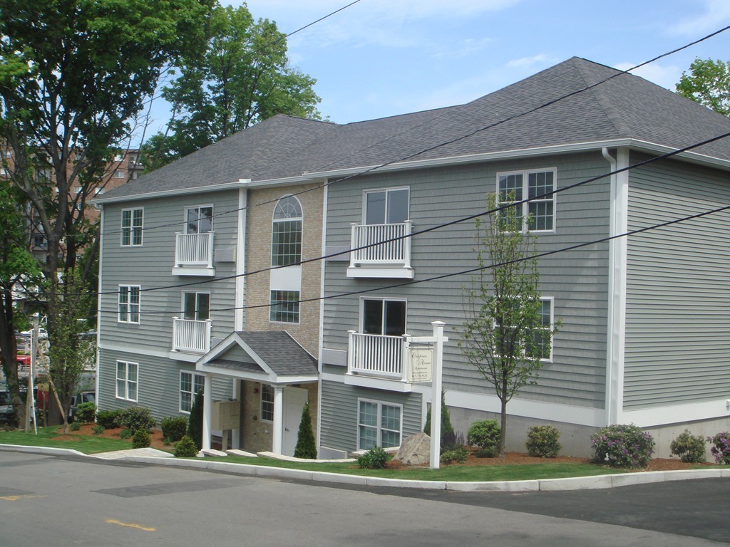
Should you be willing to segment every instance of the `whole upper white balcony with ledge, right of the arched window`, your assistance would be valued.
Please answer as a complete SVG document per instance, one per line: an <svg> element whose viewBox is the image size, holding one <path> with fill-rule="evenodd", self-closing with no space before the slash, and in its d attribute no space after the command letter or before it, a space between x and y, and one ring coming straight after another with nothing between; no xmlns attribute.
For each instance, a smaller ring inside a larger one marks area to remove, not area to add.
<svg viewBox="0 0 730 547"><path fill-rule="evenodd" d="M350 267L347 277L413 279L410 264L411 226L398 224L352 225Z"/></svg>

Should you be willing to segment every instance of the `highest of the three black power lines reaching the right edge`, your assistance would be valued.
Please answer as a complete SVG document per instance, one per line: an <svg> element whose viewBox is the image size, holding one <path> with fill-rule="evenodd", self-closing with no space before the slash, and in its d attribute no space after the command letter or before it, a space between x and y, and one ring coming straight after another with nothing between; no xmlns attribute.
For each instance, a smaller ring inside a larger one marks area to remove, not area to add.
<svg viewBox="0 0 730 547"><path fill-rule="evenodd" d="M355 2L353 2L353 4L354 3ZM349 7L350 5L352 5L352 4L348 4L345 7ZM345 8L342 8L342 9L345 9ZM313 24L313 23L310 23L310 24ZM642 66L648 65L650 63L654 63L654 62L658 61L659 59L664 58L664 57L667 57L669 55L674 55L675 53L678 53L678 52L680 52L682 50L687 49L688 47L692 47L692 46L694 46L696 44L699 44L701 42L704 42L705 40L710 39L713 36L717 36L718 34L721 34L721 33L725 32L725 31L727 31L729 29L730 29L730 25L729 26L725 26L723 28L718 29L717 31L714 31L714 32L712 32L710 34L707 34L707 36L703 36L702 38L696 39L693 42L689 42L688 44L684 44L683 46L677 47L674 50L670 50L670 51L668 51L666 53L662 53L661 55L657 55L656 57L651 58L648 61L644 61L643 63L639 63L636 66L632 66L629 69L626 69L624 71L617 71L615 74L612 74L609 77L605 77L604 79L600 80L599 82L593 83L591 85L587 85L584 88L580 88L578 90L571 91L570 93L566 93L566 94L564 94L562 96L559 96L557 98L554 98L554 99L552 99L550 101L547 101L545 103L539 104L538 106L534 106L531 109L528 109L528 110L523 111L523 112L519 112L518 114L515 114L515 115L512 115L512 116L508 116L506 118L503 118L502 120L499 120L499 121L496 121L494 123L485 125L485 126L483 126L481 128L477 128L474 131L471 131L471 132L466 133L464 135L458 136L458 137L456 137L454 139L450 139L448 141L444 141L444 142L441 142L439 144L435 144L435 145L433 145L431 147L427 147L427 148L425 148L423 150L419 150L418 152L413 152L413 153L411 153L409 155L406 155L404 157L398 158L396 160L390 160L390 161L387 161L387 162L384 162L384 163L380 163L377 166L373 166L373 167L370 167L370 168L366 168L363 171L359 171L358 173L350 174L348 176L344 176L344 177L339 178L339 179L334 179L334 180L331 180L329 182L325 182L325 183L323 183L321 185L317 185L315 187L307 188L305 190L300 190L299 192L291 193L291 194L288 194L288 195L296 196L296 195L302 195L302 194L305 194L305 193L310 193L310 192L312 192L314 190L320 190L320 189L329 187L331 185L334 185L335 183L344 182L346 180L353 179L353 178L355 178L357 176L363 176L365 174L372 173L373 171L377 171L378 169L382 169L382 168L387 167L389 165L392 165L394 163L401 163L403 161L410 160L411 158L415 158L416 156L421 155L421 154L424 154L426 152L432 152L433 150L437 150L438 148L448 146L449 144L454 144L454 143L456 143L458 141L461 141L461 140L464 140L464 139L468 139L469 137L474 136L477 133L481 133L482 131L487 131L488 129L495 128L498 125L502 125L502 124L507 123L507 122L510 122L512 120L516 120L519 117L523 117L525 115L529 115L532 112L537 112L538 110L543 109L543 108L546 108L547 106L551 106L553 104L556 104L559 101L563 101L566 98L569 98L569 97L572 97L572 96L576 96L576 95L578 95L580 93L583 93L583 92L585 92L587 90L591 90L593 88L596 88L597 86L602 85L605 82L608 82L609 80L611 80L611 79L613 79L615 77L621 76L623 74L629 74L633 70L639 69ZM430 120L426 120L423 123L419 123L419 124L414 125L414 126L412 126L410 128L404 129L404 131L401 131L401 132L396 133L394 135L385 137L385 139L382 139L380 141L377 141L377 143L371 144L369 147L373 147L376 144L383 144L383 142L386 142L388 140L394 139L396 136L400 136L400 135L402 135L404 133L409 133L411 131L415 131L418 128L422 127L423 125L426 125L426 124L429 124L429 123L435 123L437 120L439 120L441 117L443 117L445 115L447 115L447 112L444 112L441 115L438 115L437 117L431 118ZM258 207L258 206L268 205L268 204L271 204L271 203L276 203L277 201L279 201L278 198L277 199L267 200L267 201L261 201L259 203L254 203L253 205L247 205L247 206L244 206L244 207L239 207L237 209L229 209L228 211L224 211L224 212L220 212L220 213L213 214L211 218L215 218L215 217L219 217L219 216L224 216L224 215L228 215L228 214L235 214L235 213L238 213L238 212L241 212L241 211L245 211L247 209L252 209L253 207ZM154 226L150 226L148 228L142 228L142 230L143 231L146 231L146 230L157 230L159 228L170 228L172 226L183 226L183 225L185 225L185 223L186 223L186 221L183 221L183 222L168 222L168 223L161 224L161 225L154 225ZM118 234L118 233L119 234L122 233L121 230L119 230L119 231L112 231L112 232L104 232L103 235L114 235L114 234Z"/></svg>

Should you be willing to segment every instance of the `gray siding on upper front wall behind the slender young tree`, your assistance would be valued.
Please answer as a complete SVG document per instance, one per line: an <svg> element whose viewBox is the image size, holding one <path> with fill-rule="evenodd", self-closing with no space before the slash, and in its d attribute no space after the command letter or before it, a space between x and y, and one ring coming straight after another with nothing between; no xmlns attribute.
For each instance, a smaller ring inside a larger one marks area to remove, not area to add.
<svg viewBox="0 0 730 547"><path fill-rule="evenodd" d="M496 174L533 168L557 168L557 187L607 173L599 153L510 160L473 166L455 166L403 174L380 174L335 183L328 190L327 245L348 245L350 222L361 221L362 193L366 189L410 187L413 230L467 217L486 210L486 193L496 190ZM593 182L556 197L556 232L537 236L539 252L604 238L609 230L608 179ZM364 295L326 300L323 347L347 349L346 331L359 330L359 301L368 295L407 298L407 331L429 335L431 322L442 320L450 341L445 344L444 387L462 392L493 392L464 362L457 341L464 322L463 287L469 274L424 281L476 266L475 223L460 222L412 238L415 284L382 279L347 279L345 263L326 264L326 295L380 289ZM554 360L539 373L535 386L524 387L520 397L576 406L603 408L607 337L607 244L545 257L539 262L543 296L555 298L555 317L563 325L554 341ZM420 283L419 283L420 282ZM388 288L385 288L389 286Z"/></svg>

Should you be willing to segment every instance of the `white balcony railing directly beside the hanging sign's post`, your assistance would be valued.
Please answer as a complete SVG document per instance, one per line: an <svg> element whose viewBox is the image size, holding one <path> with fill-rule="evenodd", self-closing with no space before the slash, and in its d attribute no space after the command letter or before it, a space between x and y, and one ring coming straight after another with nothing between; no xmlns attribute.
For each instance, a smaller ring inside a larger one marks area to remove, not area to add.
<svg viewBox="0 0 730 547"><path fill-rule="evenodd" d="M347 373L406 379L405 341L402 336L361 334L347 331Z"/></svg>

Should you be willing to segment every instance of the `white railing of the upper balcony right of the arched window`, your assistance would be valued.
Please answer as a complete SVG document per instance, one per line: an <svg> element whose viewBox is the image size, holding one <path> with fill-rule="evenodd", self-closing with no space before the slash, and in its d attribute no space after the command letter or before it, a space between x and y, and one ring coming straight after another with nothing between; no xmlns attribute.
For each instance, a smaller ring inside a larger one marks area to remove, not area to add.
<svg viewBox="0 0 730 547"><path fill-rule="evenodd" d="M388 265L410 268L412 222L351 224L350 267ZM380 243L383 242L383 243Z"/></svg>

